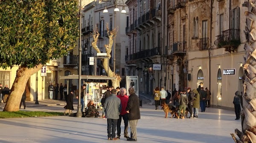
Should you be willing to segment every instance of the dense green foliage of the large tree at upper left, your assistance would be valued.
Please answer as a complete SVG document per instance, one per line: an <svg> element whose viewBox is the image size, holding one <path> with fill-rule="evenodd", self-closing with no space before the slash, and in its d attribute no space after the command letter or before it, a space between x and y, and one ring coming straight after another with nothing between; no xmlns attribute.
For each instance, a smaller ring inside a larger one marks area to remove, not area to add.
<svg viewBox="0 0 256 143"><path fill-rule="evenodd" d="M78 0L0 0L0 67L58 59L79 37Z"/></svg>

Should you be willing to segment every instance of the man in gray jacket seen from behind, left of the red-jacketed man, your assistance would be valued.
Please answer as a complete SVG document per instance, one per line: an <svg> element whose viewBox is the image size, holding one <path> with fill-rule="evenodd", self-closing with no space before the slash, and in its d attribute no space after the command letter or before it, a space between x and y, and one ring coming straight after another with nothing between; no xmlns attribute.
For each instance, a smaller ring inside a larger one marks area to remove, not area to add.
<svg viewBox="0 0 256 143"><path fill-rule="evenodd" d="M116 124L122 109L120 98L116 97L116 89L111 90L109 96L104 103L105 115L108 122L108 140L117 140ZM112 133L111 133L112 130Z"/></svg>

